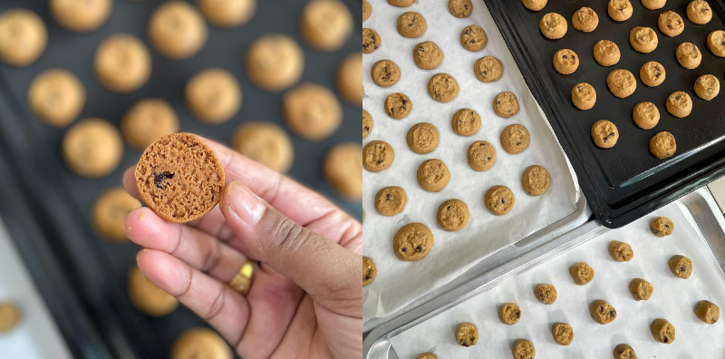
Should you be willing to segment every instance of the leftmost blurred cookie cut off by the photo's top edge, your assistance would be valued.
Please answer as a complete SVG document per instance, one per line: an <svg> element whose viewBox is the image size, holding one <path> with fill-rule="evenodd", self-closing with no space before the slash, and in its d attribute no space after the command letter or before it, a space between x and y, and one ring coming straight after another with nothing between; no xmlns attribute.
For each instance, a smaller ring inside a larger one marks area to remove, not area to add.
<svg viewBox="0 0 725 359"><path fill-rule="evenodd" d="M48 10L56 23L67 30L91 32L111 15L111 0L50 0Z"/></svg>

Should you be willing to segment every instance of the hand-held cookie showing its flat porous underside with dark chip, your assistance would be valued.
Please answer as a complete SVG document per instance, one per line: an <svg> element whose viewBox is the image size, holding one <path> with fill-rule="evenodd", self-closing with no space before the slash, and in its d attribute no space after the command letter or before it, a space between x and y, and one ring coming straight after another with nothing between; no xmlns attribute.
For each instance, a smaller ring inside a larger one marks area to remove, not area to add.
<svg viewBox="0 0 725 359"><path fill-rule="evenodd" d="M152 143L134 172L141 200L175 223L203 217L219 203L224 169L197 136L174 133Z"/></svg>

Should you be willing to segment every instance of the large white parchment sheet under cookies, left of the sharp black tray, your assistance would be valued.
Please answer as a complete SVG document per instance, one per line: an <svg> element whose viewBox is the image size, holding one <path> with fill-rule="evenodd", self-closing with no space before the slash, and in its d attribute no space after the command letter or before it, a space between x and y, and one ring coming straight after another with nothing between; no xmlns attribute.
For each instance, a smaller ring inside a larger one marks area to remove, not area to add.
<svg viewBox="0 0 725 359"><path fill-rule="evenodd" d="M363 289L363 318L390 315L431 289L458 277L481 259L502 247L526 238L536 230L564 218L575 210L579 196L574 172L570 169L556 137L526 82L517 70L498 28L486 5L474 4L473 14L466 19L450 15L446 2L420 2L408 8L374 0L372 15L362 26L377 31L382 46L362 56L363 86L366 98L363 108L372 115L373 127L364 142L382 140L391 144L395 159L388 170L363 173L362 207L367 214L363 227L364 255L372 257L378 275ZM398 15L415 11L426 18L428 30L417 39L398 34ZM488 34L487 46L471 53L459 43L460 31L469 24L480 25ZM444 54L435 70L420 70L412 60L412 48L422 41L433 41ZM503 77L498 82L480 82L473 73L473 63L480 57L493 55L504 63ZM381 88L369 75L372 64L392 60L401 68L401 80L389 88ZM435 73L449 73L459 83L459 95L452 102L440 103L430 98L427 84ZM510 119L498 117L492 109L493 98L503 91L517 95L521 110ZM403 92L411 98L413 109L401 121L392 120L383 111L383 102L392 92ZM470 108L481 117L481 129L470 137L461 137L450 129L450 118L461 108ZM405 135L418 122L430 122L438 128L440 144L429 154L413 153L405 143ZM520 123L531 135L529 148L517 155L507 154L498 136L508 124ZM497 163L491 170L471 170L466 160L469 145L488 141L497 150ZM415 173L420 162L440 159L450 171L449 185L439 193L420 189ZM521 188L521 173L528 166L544 166L552 179L548 192L529 197ZM496 217L483 205L486 190L506 185L514 192L516 205L506 216ZM405 210L394 217L378 214L373 205L375 193L388 186L400 186L408 195ZM459 232L439 228L436 211L446 199L462 199L470 211L469 224ZM391 250L392 237L403 225L422 222L433 232L435 245L419 262L403 262Z"/></svg>

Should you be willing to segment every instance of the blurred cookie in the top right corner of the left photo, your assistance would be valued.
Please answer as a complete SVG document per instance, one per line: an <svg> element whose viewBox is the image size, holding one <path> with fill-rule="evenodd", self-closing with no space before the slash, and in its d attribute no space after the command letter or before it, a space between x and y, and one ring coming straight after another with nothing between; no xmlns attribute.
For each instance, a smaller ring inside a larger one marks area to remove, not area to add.
<svg viewBox="0 0 725 359"><path fill-rule="evenodd" d="M312 48L331 52L340 49L353 34L353 15L339 0L312 0L300 16L300 34Z"/></svg>

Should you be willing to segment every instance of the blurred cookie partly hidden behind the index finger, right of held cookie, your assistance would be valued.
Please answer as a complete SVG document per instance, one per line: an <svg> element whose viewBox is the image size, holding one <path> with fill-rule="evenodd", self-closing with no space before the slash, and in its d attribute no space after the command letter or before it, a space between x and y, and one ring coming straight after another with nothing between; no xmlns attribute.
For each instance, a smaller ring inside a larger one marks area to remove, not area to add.
<svg viewBox="0 0 725 359"><path fill-rule="evenodd" d="M234 133L231 145L232 149L239 151L239 153L281 173L289 170L292 167L292 161L295 159L295 148L292 146L292 140L290 140L285 130L272 122L247 121L242 123ZM360 146L357 146L357 151L358 154L362 153ZM328 156L332 153L332 151L328 153ZM360 163L362 163L360 159L355 160L356 165L360 166ZM336 165L341 166L339 163ZM323 169L326 172L325 166L323 166Z"/></svg>

